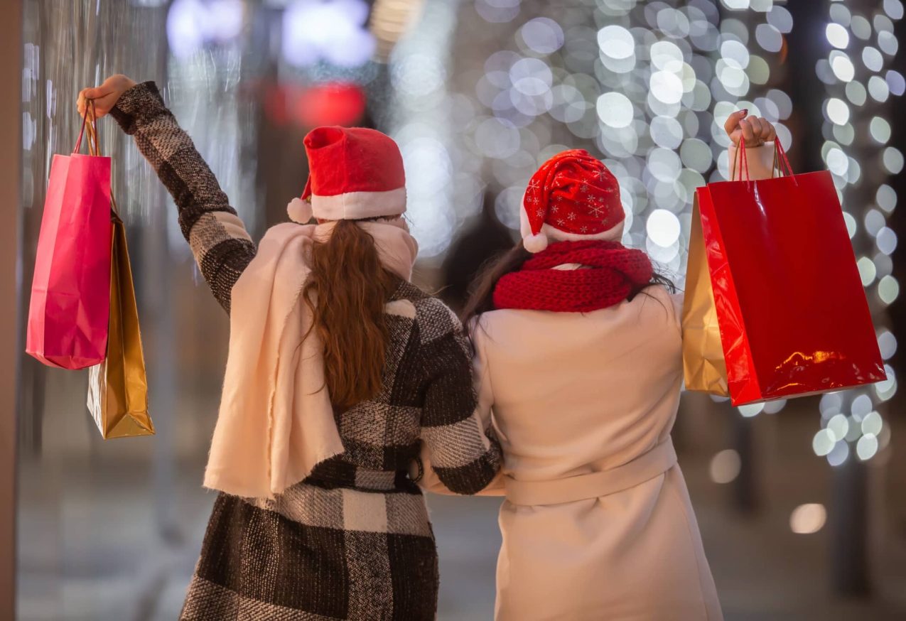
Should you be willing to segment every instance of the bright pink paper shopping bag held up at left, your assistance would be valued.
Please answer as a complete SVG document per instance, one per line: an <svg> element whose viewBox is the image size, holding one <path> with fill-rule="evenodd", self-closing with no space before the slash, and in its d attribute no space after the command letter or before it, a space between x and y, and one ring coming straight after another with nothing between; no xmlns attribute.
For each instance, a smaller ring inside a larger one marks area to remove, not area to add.
<svg viewBox="0 0 906 621"><path fill-rule="evenodd" d="M104 360L111 292L111 159L54 155L34 261L25 351L51 366Z"/></svg>

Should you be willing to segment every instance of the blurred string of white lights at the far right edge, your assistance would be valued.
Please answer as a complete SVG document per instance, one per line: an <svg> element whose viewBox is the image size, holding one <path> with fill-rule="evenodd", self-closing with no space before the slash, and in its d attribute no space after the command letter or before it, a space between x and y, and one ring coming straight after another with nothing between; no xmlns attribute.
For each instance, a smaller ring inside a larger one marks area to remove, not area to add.
<svg viewBox="0 0 906 621"><path fill-rule="evenodd" d="M900 294L891 259L897 236L886 222L897 194L886 181L903 169L902 152L889 144L894 121L890 98L901 96L906 82L891 66L899 47L893 21L902 19L903 5L901 0L832 0L826 8L824 34L831 49L815 66L826 90L821 152L843 203L863 286L878 311L876 324L883 323L883 309ZM885 361L896 353L896 338L886 328L878 332L878 345ZM884 368L885 382L822 398L822 429L812 448L831 465L853 456L868 461L890 442L890 429L877 408L896 393L897 381L892 366Z"/></svg>

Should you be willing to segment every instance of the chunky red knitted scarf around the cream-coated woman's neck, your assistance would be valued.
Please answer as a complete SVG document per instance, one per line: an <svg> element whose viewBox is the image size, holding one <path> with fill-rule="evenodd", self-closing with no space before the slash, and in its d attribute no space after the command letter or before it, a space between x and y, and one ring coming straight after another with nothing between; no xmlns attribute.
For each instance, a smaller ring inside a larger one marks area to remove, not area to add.
<svg viewBox="0 0 906 621"><path fill-rule="evenodd" d="M576 263L577 269L553 269ZM651 282L651 259L611 241L561 241L497 281L496 308L583 313L621 303Z"/></svg>

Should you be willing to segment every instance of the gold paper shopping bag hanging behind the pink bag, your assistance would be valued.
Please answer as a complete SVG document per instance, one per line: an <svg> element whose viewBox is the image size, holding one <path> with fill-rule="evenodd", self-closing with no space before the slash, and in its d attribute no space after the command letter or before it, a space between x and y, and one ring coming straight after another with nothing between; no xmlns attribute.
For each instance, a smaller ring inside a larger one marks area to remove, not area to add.
<svg viewBox="0 0 906 621"><path fill-rule="evenodd" d="M106 360L89 370L88 409L105 439L154 435L126 229L115 211L109 334Z"/></svg>

